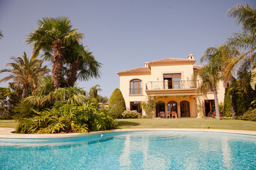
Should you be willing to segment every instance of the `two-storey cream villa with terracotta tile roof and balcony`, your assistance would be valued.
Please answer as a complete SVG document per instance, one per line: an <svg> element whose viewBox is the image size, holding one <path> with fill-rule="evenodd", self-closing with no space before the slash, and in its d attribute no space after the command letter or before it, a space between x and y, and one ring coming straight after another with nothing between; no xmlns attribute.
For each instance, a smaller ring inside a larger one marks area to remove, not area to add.
<svg viewBox="0 0 256 170"><path fill-rule="evenodd" d="M178 118L201 118L214 113L213 92L202 95L197 93L197 87L191 78L193 72L203 66L194 65L193 55L187 59L166 58L146 62L144 67L117 72L120 77L120 90L128 110L136 110L145 115L140 103L147 96L156 99L154 115L176 112ZM200 84L200 79L197 84ZM218 102L224 101L225 88L223 82L218 85Z"/></svg>

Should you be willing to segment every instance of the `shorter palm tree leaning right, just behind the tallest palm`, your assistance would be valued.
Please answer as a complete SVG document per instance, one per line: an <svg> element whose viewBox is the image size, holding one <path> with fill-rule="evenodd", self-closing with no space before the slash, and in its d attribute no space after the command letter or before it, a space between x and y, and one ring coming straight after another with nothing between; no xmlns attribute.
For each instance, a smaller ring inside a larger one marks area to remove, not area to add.
<svg viewBox="0 0 256 170"><path fill-rule="evenodd" d="M90 78L100 77L101 63L95 60L92 52L85 49L82 44L70 45L66 48L66 79L69 86L74 86L75 81L87 81Z"/></svg>

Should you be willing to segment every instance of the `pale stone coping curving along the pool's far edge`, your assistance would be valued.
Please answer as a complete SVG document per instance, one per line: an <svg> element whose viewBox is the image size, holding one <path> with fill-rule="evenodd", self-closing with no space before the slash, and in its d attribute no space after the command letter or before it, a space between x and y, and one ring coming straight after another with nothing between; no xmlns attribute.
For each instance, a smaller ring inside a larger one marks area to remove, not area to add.
<svg viewBox="0 0 256 170"><path fill-rule="evenodd" d="M60 137L79 137L85 135L98 134L102 132L90 132L89 134L82 133L59 133L59 134L18 134L14 133L14 128L0 128L0 138L60 138ZM224 132L224 133L235 133L243 135L255 135L254 130L224 130L224 129L198 129L198 128L141 128L141 129L117 129L104 132L135 132L135 131L188 131L188 132Z"/></svg>

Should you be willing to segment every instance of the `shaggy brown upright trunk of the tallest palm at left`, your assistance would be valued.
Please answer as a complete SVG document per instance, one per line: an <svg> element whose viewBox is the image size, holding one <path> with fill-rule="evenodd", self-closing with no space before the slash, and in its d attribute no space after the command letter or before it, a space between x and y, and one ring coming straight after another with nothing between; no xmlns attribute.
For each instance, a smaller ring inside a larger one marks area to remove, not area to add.
<svg viewBox="0 0 256 170"><path fill-rule="evenodd" d="M59 89L63 81L64 48L60 40L53 45L53 87Z"/></svg>

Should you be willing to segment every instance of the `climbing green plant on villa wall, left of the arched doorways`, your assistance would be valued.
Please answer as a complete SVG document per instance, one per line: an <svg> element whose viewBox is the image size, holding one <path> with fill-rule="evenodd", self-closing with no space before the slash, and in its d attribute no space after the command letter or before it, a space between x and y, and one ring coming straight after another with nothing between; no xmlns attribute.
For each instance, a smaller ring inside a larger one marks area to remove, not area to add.
<svg viewBox="0 0 256 170"><path fill-rule="evenodd" d="M154 118L154 110L156 108L156 101L154 97L149 96L141 103L142 108L146 113L146 118Z"/></svg>

